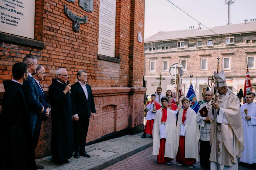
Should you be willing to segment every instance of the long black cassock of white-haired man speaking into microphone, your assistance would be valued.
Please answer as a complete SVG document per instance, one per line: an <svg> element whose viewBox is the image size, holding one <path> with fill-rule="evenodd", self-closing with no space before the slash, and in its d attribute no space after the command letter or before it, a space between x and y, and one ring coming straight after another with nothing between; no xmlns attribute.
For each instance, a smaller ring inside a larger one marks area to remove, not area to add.
<svg viewBox="0 0 256 170"><path fill-rule="evenodd" d="M63 93L66 86L66 83L52 79L48 92L52 106L51 151L55 160L71 158L74 150L72 103L69 92Z"/></svg>

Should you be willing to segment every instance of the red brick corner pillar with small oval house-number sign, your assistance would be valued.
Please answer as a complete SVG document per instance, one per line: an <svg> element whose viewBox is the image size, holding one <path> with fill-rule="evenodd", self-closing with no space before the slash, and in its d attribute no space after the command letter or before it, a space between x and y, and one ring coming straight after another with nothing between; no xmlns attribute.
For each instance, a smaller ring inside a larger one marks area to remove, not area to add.
<svg viewBox="0 0 256 170"><path fill-rule="evenodd" d="M144 42L138 42L138 33L144 36L144 0L131 1L131 20L130 20L130 53L129 53L129 87L130 92L130 110L129 127L138 126L143 130L143 104L145 88L143 88L144 71ZM134 133L134 132L132 132ZM136 133L136 132L135 132Z"/></svg>

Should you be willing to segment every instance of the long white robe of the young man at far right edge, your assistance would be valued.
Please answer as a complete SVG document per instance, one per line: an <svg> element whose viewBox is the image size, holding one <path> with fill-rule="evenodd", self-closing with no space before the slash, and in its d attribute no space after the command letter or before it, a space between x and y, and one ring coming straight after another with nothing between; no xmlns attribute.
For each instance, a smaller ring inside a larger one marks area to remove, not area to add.
<svg viewBox="0 0 256 170"><path fill-rule="evenodd" d="M247 116L251 116L251 120L246 120L245 109L247 109ZM240 161L253 164L256 163L256 104L253 102L243 104L241 114L244 129L244 151Z"/></svg>

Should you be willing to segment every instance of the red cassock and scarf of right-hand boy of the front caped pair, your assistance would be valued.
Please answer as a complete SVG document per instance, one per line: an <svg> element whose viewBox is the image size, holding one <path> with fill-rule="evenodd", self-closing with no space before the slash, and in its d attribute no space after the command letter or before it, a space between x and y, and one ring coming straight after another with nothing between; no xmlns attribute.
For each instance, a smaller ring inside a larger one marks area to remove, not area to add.
<svg viewBox="0 0 256 170"><path fill-rule="evenodd" d="M184 123L185 119L187 119L187 109L183 110L182 115L182 123ZM185 158L185 136L180 136L179 148L176 156L176 161L182 163L183 165L189 165L196 163L196 159L194 158Z"/></svg>

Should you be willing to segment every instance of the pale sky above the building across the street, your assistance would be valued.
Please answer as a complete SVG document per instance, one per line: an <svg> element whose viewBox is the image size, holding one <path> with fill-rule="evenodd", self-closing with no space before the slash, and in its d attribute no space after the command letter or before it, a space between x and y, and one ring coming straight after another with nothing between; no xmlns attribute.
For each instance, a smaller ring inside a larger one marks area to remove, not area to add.
<svg viewBox="0 0 256 170"><path fill-rule="evenodd" d="M212 28L227 25L228 5L225 0L169 0L193 18ZM145 0L145 32L148 38L160 31L198 28L198 22L180 11L167 0ZM231 5L231 24L256 19L256 0L236 0ZM205 29L204 26L201 26Z"/></svg>

